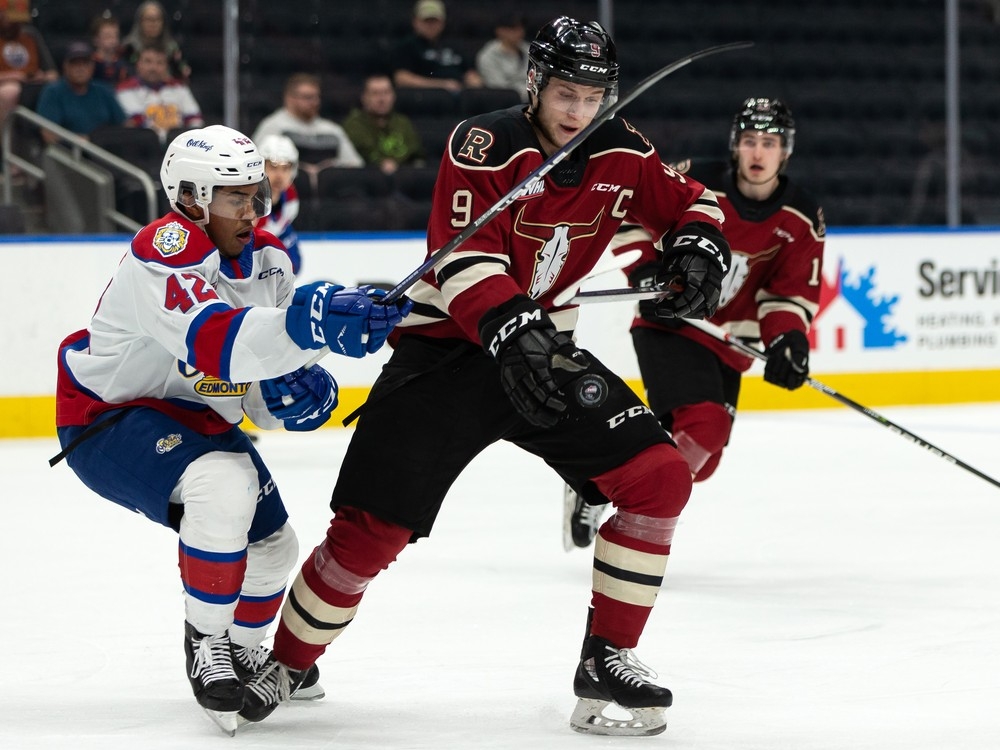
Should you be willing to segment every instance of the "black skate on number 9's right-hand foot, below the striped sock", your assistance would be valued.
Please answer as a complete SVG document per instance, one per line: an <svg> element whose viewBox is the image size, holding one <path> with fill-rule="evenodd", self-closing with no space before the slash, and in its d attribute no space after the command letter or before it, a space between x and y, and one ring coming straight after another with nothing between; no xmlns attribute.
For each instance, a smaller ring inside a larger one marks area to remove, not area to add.
<svg viewBox="0 0 1000 750"><path fill-rule="evenodd" d="M673 703L673 695L646 678L656 679L656 673L630 649L588 636L573 679L573 692L579 700L570 726L588 734L659 734L667 728L663 709ZM609 706L622 709L630 718L606 716L604 710Z"/></svg>

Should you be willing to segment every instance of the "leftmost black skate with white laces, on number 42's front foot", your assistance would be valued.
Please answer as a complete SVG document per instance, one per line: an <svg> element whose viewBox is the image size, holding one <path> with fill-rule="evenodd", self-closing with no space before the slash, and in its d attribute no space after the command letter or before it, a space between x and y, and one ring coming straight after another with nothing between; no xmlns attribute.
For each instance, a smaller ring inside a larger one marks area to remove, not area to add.
<svg viewBox="0 0 1000 750"><path fill-rule="evenodd" d="M205 635L185 622L184 653L195 700L222 731L236 734L243 683L233 669L229 634Z"/></svg>

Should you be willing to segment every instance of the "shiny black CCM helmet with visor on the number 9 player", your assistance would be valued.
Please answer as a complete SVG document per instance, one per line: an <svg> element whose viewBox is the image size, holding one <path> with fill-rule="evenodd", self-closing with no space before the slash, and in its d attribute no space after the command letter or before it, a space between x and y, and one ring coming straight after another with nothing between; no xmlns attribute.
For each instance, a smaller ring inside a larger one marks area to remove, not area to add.
<svg viewBox="0 0 1000 750"><path fill-rule="evenodd" d="M549 76L604 89L601 111L618 101L618 52L597 21L559 16L542 26L528 48L528 92L538 96Z"/></svg>

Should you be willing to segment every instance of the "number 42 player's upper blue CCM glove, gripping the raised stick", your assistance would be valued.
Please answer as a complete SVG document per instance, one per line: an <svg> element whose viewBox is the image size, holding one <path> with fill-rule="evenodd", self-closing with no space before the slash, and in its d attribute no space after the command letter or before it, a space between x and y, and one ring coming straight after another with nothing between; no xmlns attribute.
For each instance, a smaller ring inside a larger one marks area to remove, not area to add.
<svg viewBox="0 0 1000 750"><path fill-rule="evenodd" d="M385 295L369 286L345 289L314 282L295 290L285 317L285 330L302 349L320 349L348 357L378 351L386 337L413 307L409 300L379 304Z"/></svg>

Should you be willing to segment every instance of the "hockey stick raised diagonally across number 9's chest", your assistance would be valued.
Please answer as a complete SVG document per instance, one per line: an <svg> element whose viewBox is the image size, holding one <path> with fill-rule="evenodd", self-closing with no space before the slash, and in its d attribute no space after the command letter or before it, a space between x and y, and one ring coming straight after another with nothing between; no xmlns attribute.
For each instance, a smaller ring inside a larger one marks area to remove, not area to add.
<svg viewBox="0 0 1000 750"><path fill-rule="evenodd" d="M729 44L720 44L715 47L708 47L706 49L694 52L686 57L682 57L679 60L660 68L658 71L648 76L647 78L640 81L636 86L621 97L617 102L612 104L601 114L593 119L593 121L573 136L565 146L556 151L552 156L543 161L538 167L521 180L517 185L515 185L509 193L507 193L503 198L494 203L490 208L486 209L475 221L473 221L469 226L463 229L460 233L452 237L445 245L435 250L431 255L421 263L417 268L415 268L410 274L406 276L402 281L400 281L396 286L390 289L386 295L382 298L383 304L389 304L395 302L409 289L411 286L420 280L420 277L425 273L430 271L441 261L451 255L463 242L469 239L472 235L482 229L484 226L489 224L493 219L495 219L501 211L510 206L514 201L518 199L519 196L527 194L528 186L541 180L545 175L547 175L553 167L555 167L559 162L569 156L573 149L583 143L587 138L593 135L594 131L597 130L601 125L606 123L612 117L615 116L623 107L633 102L639 97L644 91L649 89L651 86L655 85L657 82L666 78L671 73L674 73L681 68L693 63L695 60L700 60L703 57L708 57L710 55L717 55L722 52L730 52L737 49L746 49L747 47L752 47L753 42L731 42Z"/></svg>

